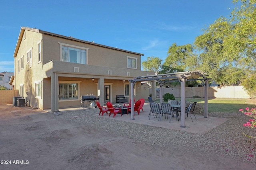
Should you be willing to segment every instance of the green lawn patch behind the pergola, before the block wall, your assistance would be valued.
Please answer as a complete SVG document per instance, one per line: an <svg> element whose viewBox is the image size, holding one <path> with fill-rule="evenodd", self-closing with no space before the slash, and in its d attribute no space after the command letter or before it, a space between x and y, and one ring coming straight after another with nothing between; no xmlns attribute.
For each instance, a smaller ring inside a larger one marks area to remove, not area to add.
<svg viewBox="0 0 256 170"><path fill-rule="evenodd" d="M176 98L180 100L180 98ZM204 98L186 98L188 102L198 102L204 105ZM156 102L160 102L157 98ZM254 102L250 102L249 99L223 99L223 98L209 98L208 99L208 112L234 112L239 113L239 109L245 109L246 107L254 108L256 105ZM203 110L204 111L204 110Z"/></svg>

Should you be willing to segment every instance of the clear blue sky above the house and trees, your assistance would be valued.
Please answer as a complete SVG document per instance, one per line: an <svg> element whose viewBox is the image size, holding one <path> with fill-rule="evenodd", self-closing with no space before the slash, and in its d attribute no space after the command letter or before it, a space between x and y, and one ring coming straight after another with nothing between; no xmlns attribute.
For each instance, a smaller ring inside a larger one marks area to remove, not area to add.
<svg viewBox="0 0 256 170"><path fill-rule="evenodd" d="M5 0L0 6L0 72L14 72L20 28L72 36L85 41L167 57L173 44L193 43L232 0Z"/></svg>

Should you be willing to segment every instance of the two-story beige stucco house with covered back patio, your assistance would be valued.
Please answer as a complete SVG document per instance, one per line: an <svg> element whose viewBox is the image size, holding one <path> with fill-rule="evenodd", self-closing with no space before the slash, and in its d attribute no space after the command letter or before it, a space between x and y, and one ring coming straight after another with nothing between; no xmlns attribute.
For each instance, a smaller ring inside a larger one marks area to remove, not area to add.
<svg viewBox="0 0 256 170"><path fill-rule="evenodd" d="M80 96L94 94L101 105L128 96L128 80L154 72L141 70L143 54L22 27L14 51L14 88L30 106L58 111L80 106ZM135 85L135 98L142 98Z"/></svg>

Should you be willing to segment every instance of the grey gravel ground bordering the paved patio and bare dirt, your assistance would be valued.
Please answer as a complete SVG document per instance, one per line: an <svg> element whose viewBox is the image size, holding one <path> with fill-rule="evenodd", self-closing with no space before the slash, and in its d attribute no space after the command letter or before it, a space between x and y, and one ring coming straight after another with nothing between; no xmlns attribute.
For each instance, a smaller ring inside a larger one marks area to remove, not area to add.
<svg viewBox="0 0 256 170"><path fill-rule="evenodd" d="M244 135L256 136L256 131L243 126L249 117L242 113L208 113L208 116L224 117L228 118L228 121L207 133L196 134L93 116L98 111L98 108L68 111L59 115L58 119L66 119L77 125L88 125L120 137L143 142L146 145L159 147L186 146L191 151L198 152L200 150L203 153L211 151L216 155L224 154L256 165L256 141ZM73 116L79 117L70 119ZM251 141L251 143L248 141Z"/></svg>

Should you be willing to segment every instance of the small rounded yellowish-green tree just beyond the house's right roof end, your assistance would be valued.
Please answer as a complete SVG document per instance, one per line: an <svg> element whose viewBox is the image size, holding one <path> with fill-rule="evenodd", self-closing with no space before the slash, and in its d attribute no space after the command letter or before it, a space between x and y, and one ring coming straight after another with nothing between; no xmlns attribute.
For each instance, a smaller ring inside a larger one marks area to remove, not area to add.
<svg viewBox="0 0 256 170"><path fill-rule="evenodd" d="M162 60L158 57L148 57L147 61L142 61L142 68L145 71L158 72L161 66Z"/></svg>

